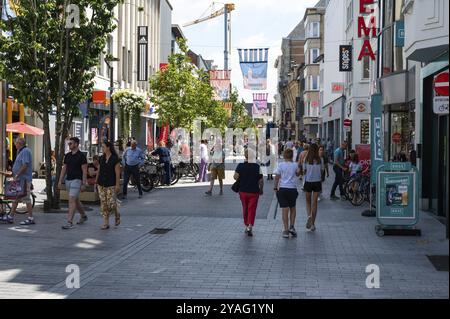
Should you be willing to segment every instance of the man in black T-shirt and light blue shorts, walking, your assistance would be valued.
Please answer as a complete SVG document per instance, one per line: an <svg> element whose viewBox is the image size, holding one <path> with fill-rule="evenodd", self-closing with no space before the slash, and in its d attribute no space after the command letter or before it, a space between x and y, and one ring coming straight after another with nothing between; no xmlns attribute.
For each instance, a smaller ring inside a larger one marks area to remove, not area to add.
<svg viewBox="0 0 450 319"><path fill-rule="evenodd" d="M59 177L58 188L62 189L64 177L66 178L66 191L69 196L69 213L67 224L62 226L63 229L73 228L73 218L75 211L78 210L81 217L77 222L81 225L87 221L87 215L80 202L80 192L86 190L87 184L87 159L80 151L80 139L78 137L71 137L69 140L70 152L64 156L64 165Z"/></svg>

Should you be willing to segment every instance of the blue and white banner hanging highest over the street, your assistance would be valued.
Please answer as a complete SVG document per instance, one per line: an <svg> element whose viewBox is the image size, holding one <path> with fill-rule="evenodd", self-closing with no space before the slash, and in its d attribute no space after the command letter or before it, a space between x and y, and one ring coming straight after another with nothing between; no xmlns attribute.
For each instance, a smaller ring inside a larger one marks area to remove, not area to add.
<svg viewBox="0 0 450 319"><path fill-rule="evenodd" d="M239 62L247 90L267 89L269 49L238 49Z"/></svg>

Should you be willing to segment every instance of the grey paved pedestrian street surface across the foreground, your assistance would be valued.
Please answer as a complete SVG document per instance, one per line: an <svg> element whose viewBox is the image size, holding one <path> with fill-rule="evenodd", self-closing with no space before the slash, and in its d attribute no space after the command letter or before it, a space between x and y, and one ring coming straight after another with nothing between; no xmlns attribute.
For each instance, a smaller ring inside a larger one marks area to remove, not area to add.
<svg viewBox="0 0 450 319"><path fill-rule="evenodd" d="M448 271L427 255L448 255L445 226L422 213L421 237L378 237L367 206L327 197L316 232L305 229L297 201L297 238L281 236L273 182L266 181L254 236L244 234L241 204L230 189L204 195L207 183L182 180L120 207L122 225L104 231L98 206L86 224L65 231L63 213L36 213L34 226L0 225L0 298L448 298ZM25 217L19 216L18 221ZM78 218L78 217L77 217ZM171 229L166 233L152 230ZM368 265L380 287L366 287ZM80 287L67 288L80 270ZM71 266L73 267L73 266Z"/></svg>

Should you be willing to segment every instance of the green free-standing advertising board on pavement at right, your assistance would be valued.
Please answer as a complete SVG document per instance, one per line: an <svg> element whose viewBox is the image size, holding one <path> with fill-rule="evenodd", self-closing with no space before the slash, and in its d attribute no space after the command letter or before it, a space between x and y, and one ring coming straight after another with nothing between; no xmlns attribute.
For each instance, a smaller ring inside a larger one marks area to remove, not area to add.
<svg viewBox="0 0 450 319"><path fill-rule="evenodd" d="M376 172L378 236L420 236L417 168L409 162L388 162Z"/></svg>

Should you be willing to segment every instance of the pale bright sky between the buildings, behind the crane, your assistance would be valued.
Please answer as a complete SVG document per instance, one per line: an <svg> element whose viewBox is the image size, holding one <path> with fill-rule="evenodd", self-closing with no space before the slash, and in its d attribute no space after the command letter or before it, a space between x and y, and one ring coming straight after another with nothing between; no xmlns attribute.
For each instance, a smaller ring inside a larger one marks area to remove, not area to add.
<svg viewBox="0 0 450 319"><path fill-rule="evenodd" d="M223 69L224 17L200 24L182 27L187 22L211 14L211 0L169 0L173 6L172 23L179 24L188 40L189 48L205 60L214 60ZM231 14L231 83L247 103L253 102L252 93L269 93L273 102L277 93L276 58L281 54L281 40L303 19L305 9L318 0L229 0L236 8ZM223 6L215 4L218 10ZM268 87L266 91L245 90L239 66L237 49L269 48Z"/></svg>

